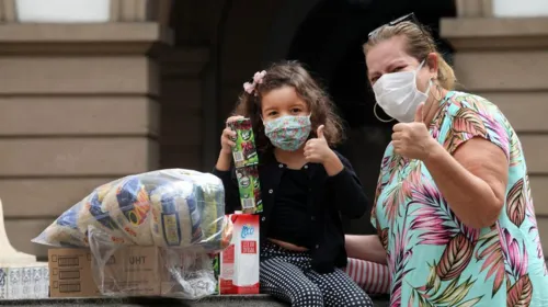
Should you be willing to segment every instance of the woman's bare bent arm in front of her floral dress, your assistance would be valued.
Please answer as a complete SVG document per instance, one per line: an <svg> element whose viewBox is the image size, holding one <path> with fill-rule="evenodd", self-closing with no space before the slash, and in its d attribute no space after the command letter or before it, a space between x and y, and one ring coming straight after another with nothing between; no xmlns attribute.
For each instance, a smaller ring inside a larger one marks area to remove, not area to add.
<svg viewBox="0 0 548 307"><path fill-rule="evenodd" d="M505 201L509 162L493 143L473 137L453 154L432 143L424 164L455 215L467 226L492 226Z"/></svg>

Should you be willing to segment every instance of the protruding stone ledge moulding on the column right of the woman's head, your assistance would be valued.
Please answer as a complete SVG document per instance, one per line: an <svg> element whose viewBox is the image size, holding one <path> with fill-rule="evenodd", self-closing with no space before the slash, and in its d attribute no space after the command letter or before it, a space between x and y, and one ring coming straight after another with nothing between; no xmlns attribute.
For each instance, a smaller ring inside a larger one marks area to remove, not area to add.
<svg viewBox="0 0 548 307"><path fill-rule="evenodd" d="M548 18L442 19L442 37L458 50L545 49L548 47Z"/></svg>

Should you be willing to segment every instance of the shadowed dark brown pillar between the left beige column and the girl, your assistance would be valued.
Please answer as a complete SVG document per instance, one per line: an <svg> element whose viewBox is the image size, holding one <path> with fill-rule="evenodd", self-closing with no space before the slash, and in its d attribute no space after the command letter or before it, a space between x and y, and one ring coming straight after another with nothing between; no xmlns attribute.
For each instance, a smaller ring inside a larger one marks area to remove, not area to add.
<svg viewBox="0 0 548 307"><path fill-rule="evenodd" d="M205 69L210 53L207 47L179 46L161 59L160 166L210 171L206 164L204 139L207 127ZM217 137L218 139L218 137Z"/></svg>

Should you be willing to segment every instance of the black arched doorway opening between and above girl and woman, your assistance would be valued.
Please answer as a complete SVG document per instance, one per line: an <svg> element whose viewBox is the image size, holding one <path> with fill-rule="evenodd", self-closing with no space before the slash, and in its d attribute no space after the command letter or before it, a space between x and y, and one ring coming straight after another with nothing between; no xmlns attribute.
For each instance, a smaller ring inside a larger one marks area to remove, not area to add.
<svg viewBox="0 0 548 307"><path fill-rule="evenodd" d="M313 1L308 2L310 5ZM378 25L414 12L423 24L432 29L442 52L450 61L452 50L445 42L439 41L438 21L443 16L455 15L455 1L317 0L316 2L300 23L295 23L295 20L289 21L285 15L286 23L298 24L294 30L296 32L293 34L293 42L286 53L279 54L278 58L270 53L266 59L300 60L329 90L340 114L346 121L347 139L338 150L349 157L365 186L367 196L373 202L380 159L390 141L393 123L381 123L374 116L374 96L366 81L362 44L366 42L367 34ZM279 23L284 21L276 22L274 24L279 30ZM284 31L273 32L271 39L281 42L283 39L277 35L287 35L288 31L290 30L285 27ZM381 111L378 114L384 115ZM367 211L359 220L346 220L346 231L372 234L374 229L369 218Z"/></svg>

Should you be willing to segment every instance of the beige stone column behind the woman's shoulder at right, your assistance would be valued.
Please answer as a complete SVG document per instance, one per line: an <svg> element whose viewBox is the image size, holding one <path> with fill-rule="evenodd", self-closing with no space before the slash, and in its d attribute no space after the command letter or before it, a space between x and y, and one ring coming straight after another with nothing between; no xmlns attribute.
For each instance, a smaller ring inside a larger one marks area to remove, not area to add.
<svg viewBox="0 0 548 307"><path fill-rule="evenodd" d="M463 89L504 112L522 140L548 255L548 19L492 18L491 1L458 1L459 15L442 20L442 36L455 47Z"/></svg>

